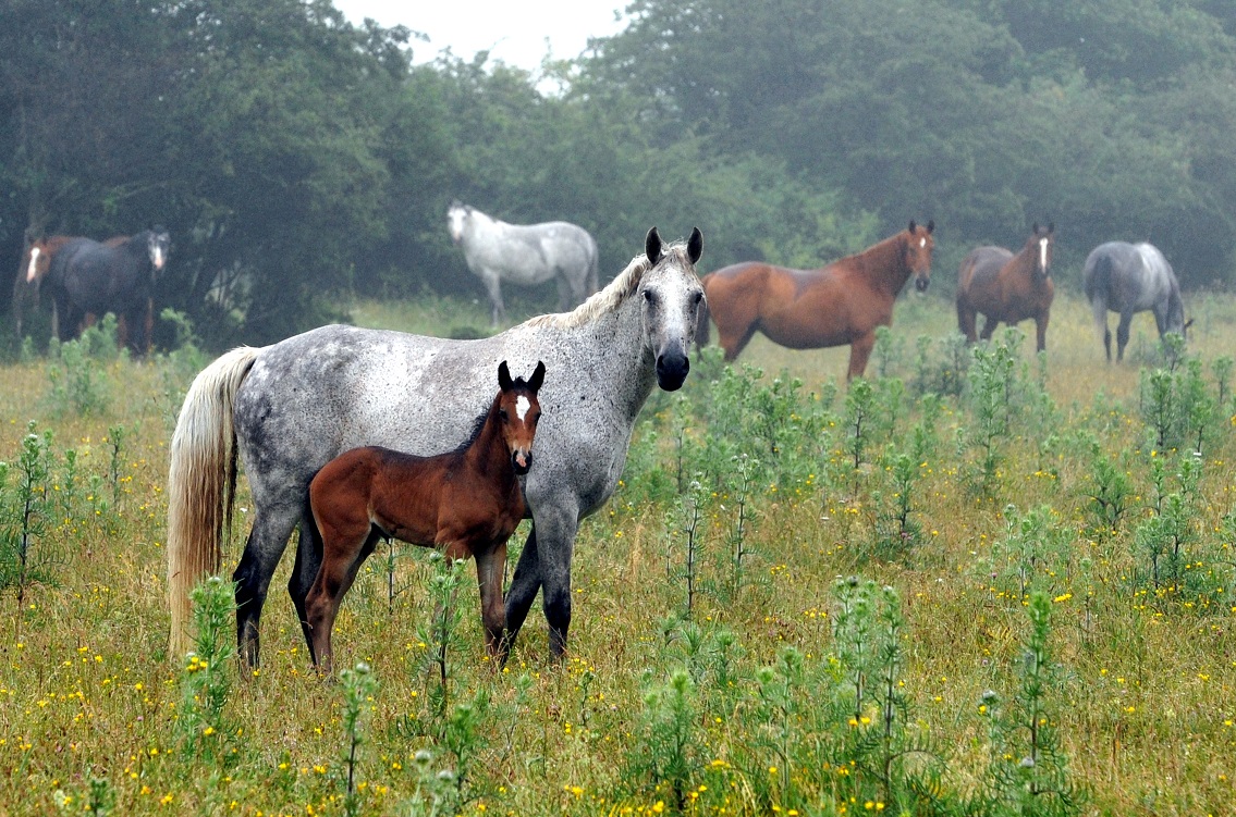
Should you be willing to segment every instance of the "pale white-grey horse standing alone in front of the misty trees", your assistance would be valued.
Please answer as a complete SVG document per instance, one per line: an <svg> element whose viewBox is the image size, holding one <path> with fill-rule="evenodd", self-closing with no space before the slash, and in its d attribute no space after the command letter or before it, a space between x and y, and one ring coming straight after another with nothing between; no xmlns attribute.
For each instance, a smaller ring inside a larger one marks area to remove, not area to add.
<svg viewBox="0 0 1236 817"><path fill-rule="evenodd" d="M451 239L489 294L494 326L507 317L502 281L530 286L554 278L562 311L597 291L597 242L583 227L565 221L508 225L459 201L446 220Z"/></svg>

